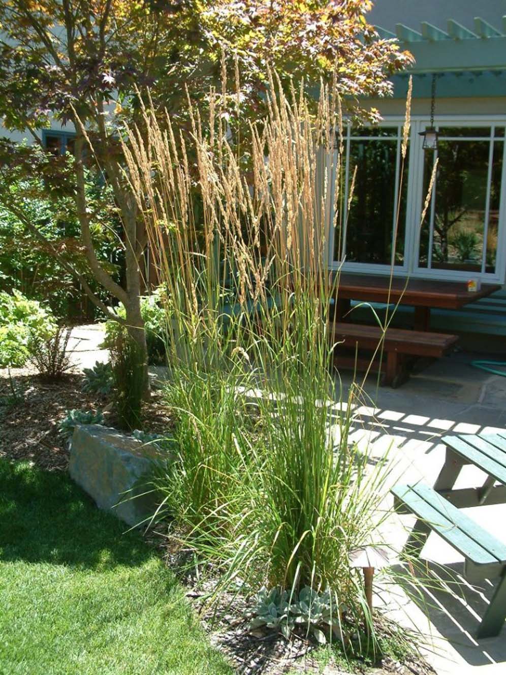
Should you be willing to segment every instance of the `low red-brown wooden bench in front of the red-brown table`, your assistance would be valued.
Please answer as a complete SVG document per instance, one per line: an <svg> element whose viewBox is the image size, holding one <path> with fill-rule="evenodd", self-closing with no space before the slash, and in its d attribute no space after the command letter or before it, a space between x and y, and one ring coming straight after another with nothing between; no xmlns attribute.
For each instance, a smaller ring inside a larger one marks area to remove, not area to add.
<svg viewBox="0 0 506 675"><path fill-rule="evenodd" d="M333 341L341 343L348 349L366 349L376 350L378 344L383 340L383 352L387 355L381 363L376 363L376 369L379 366L385 371L383 384L398 387L407 377L407 356L428 356L431 358L440 358L445 354L455 342L457 335L447 335L446 333L427 333L426 331L410 331L399 328L387 329L383 337L383 329L379 326L367 326L357 323L339 322L333 325ZM339 345L335 348L334 364L339 367L367 369L370 360L364 358L353 358L339 354ZM381 353L381 348L378 354ZM386 363L385 363L386 361Z"/></svg>

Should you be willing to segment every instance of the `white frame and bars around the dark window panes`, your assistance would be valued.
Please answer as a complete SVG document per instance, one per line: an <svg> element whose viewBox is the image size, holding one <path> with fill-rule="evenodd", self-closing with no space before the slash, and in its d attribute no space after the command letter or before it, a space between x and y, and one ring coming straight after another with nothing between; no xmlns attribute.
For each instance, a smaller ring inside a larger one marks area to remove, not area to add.
<svg viewBox="0 0 506 675"><path fill-rule="evenodd" d="M378 126L392 127L402 125L403 117L389 116L384 117ZM423 171L424 171L424 150L422 148L422 139L418 135L430 124L430 119L425 115L414 115L411 120L410 130L410 148L407 156L410 170L407 177L407 209L405 222L405 241L404 241L404 263L395 265L393 271L395 275L407 276L413 278L441 279L447 281L466 281L470 277L478 278L484 283L504 284L506 276L506 135L503 138L503 174L501 176L501 196L499 199L499 223L497 230L497 251L495 272L472 272L453 270L453 269L430 269L428 267L419 267L418 254L420 249L420 217L425 199L423 192ZM506 116L504 115L437 115L437 126L504 126L506 128ZM506 132L505 132L506 134ZM486 137L485 137L486 138ZM349 153L350 134L349 127L347 134L343 139L345 142L346 156ZM399 141L398 141L399 142ZM337 154L337 153L336 153ZM333 165L336 164L334 158ZM397 174L397 172L396 172ZM490 174L489 174L490 175ZM349 167L345 167L345 200L347 204L347 195L349 189ZM397 189L396 189L397 192ZM490 194L490 184L487 186L487 207ZM432 202L433 203L433 202ZM429 207L430 208L430 207ZM331 214L333 217L333 214ZM344 237L345 238L345 237ZM329 232L329 267L331 269L342 269L349 272L360 272L368 274L387 275L391 273L391 265L374 265L373 263L356 263L334 260L334 240L335 231L331 227ZM486 244L484 244L486 246Z"/></svg>

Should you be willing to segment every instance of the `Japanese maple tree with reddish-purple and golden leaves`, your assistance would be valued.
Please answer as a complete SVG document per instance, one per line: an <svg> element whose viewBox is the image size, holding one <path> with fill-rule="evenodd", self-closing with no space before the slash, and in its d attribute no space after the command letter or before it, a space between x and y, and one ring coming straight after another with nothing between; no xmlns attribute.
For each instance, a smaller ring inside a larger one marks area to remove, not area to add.
<svg viewBox="0 0 506 675"><path fill-rule="evenodd" d="M366 22L370 0L3 0L0 4L0 116L7 130L31 139L0 142L0 202L23 219L15 186L36 178L45 195L70 204L78 219L80 262L69 247L47 242L103 312L128 327L146 352L140 314L146 232L125 180L119 142L123 124L138 124L141 99L186 129L187 95L202 106L219 84L221 55L240 74L242 112L261 115L266 65L282 82L318 86L337 70L337 86L353 106L364 95L385 96L387 77L410 63L395 41ZM232 80L234 78L231 78ZM236 80L237 81L237 78ZM149 92L149 97L148 97ZM236 94L237 95L237 92ZM165 114L165 112L164 112ZM51 121L76 131L72 156L45 150L40 130ZM119 240L123 283L96 252L90 174L107 183ZM33 184L32 184L33 185ZM38 223L26 219L36 238ZM75 252L75 251L74 251ZM106 306L86 281L91 275L125 306ZM147 379L146 379L147 383Z"/></svg>

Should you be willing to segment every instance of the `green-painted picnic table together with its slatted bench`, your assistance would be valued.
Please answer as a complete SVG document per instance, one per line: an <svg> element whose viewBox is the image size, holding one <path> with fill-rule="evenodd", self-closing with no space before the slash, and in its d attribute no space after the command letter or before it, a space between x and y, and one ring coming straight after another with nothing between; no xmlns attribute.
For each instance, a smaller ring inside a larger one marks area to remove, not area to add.
<svg viewBox="0 0 506 675"><path fill-rule="evenodd" d="M392 489L397 511L417 516L405 551L419 555L430 531L434 531L465 558L464 576L471 583L498 579L477 633L478 638L493 637L501 632L506 618L506 543L459 508L506 503L506 431L445 436L442 441L446 445L445 464L434 488L415 483ZM474 464L487 474L483 485L453 489L464 464Z"/></svg>

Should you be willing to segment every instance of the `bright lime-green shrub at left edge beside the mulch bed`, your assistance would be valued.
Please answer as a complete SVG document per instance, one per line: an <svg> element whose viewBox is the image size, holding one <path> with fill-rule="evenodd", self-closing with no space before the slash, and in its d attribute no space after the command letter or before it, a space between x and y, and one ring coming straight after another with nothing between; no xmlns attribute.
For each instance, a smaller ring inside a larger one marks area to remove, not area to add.
<svg viewBox="0 0 506 675"><path fill-rule="evenodd" d="M37 300L28 300L17 290L0 292L0 367L23 367L30 356L30 340L49 340L56 329L51 311Z"/></svg>

